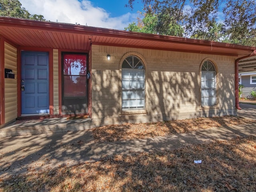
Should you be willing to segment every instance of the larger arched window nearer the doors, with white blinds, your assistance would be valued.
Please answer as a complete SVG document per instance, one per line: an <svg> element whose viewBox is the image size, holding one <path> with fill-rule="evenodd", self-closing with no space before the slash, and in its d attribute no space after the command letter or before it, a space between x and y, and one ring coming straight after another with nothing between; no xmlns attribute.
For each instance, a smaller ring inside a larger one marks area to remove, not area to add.
<svg viewBox="0 0 256 192"><path fill-rule="evenodd" d="M144 64L132 55L122 63L122 110L138 110L145 107Z"/></svg>

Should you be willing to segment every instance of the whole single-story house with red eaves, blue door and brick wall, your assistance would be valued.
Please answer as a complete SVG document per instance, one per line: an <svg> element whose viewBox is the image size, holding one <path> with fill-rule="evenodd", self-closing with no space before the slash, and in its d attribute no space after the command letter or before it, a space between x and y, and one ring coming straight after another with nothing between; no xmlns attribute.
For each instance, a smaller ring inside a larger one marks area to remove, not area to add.
<svg viewBox="0 0 256 192"><path fill-rule="evenodd" d="M0 125L84 114L92 126L236 115L255 47L0 17Z"/></svg>

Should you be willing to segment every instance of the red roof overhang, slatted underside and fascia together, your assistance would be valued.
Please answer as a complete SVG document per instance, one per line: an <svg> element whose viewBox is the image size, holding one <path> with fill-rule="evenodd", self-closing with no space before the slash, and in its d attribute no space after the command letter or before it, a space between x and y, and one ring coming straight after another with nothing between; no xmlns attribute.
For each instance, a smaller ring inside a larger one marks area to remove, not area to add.
<svg viewBox="0 0 256 192"><path fill-rule="evenodd" d="M16 46L67 50L90 50L90 44L92 43L109 46L229 55L240 58L250 55L256 49L255 47L205 40L8 17L0 17L0 36ZM244 63L241 61L240 64ZM243 70L245 69L244 67L241 66L240 69Z"/></svg>

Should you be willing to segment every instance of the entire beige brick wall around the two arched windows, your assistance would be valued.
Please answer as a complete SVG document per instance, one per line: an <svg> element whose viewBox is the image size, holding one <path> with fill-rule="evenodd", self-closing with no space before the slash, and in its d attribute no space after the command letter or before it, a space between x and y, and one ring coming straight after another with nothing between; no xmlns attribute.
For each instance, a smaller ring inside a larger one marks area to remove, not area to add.
<svg viewBox="0 0 256 192"><path fill-rule="evenodd" d="M127 114L121 109L121 61L129 53L144 62L146 110ZM218 72L213 109L200 105L200 66L205 59L216 64ZM232 56L92 45L92 118L111 124L236 114L234 61Z"/></svg>

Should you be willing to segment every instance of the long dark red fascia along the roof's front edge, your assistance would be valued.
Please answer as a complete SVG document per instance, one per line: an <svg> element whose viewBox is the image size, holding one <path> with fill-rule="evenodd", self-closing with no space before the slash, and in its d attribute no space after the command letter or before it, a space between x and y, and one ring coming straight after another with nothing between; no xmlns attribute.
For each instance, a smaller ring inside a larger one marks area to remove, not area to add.
<svg viewBox="0 0 256 192"><path fill-rule="evenodd" d="M28 19L18 19L18 18L8 18L8 17L0 17L0 26L10 26L16 28L27 28L27 29L38 29L38 30L48 30L48 31L56 31L56 32L69 32L69 33L78 33L78 34L86 34L92 36L108 36L108 37L116 37L116 38L132 38L132 39L140 39L140 40L153 40L159 42L176 42L181 44L192 44L192 45L200 45L200 46L214 46L214 47L222 47L222 48L232 48L232 49L240 49L240 50L248 50L253 51L255 47L250 46L241 46L236 44L228 44L222 42L212 42L206 40L197 40L176 36L164 36L158 34L144 34L138 32L129 32L122 30L114 30L107 28L98 28L91 26L82 26L82 25L74 25L74 24L66 24L66 23L56 23L56 22L43 22L36 20L28 20Z"/></svg>

